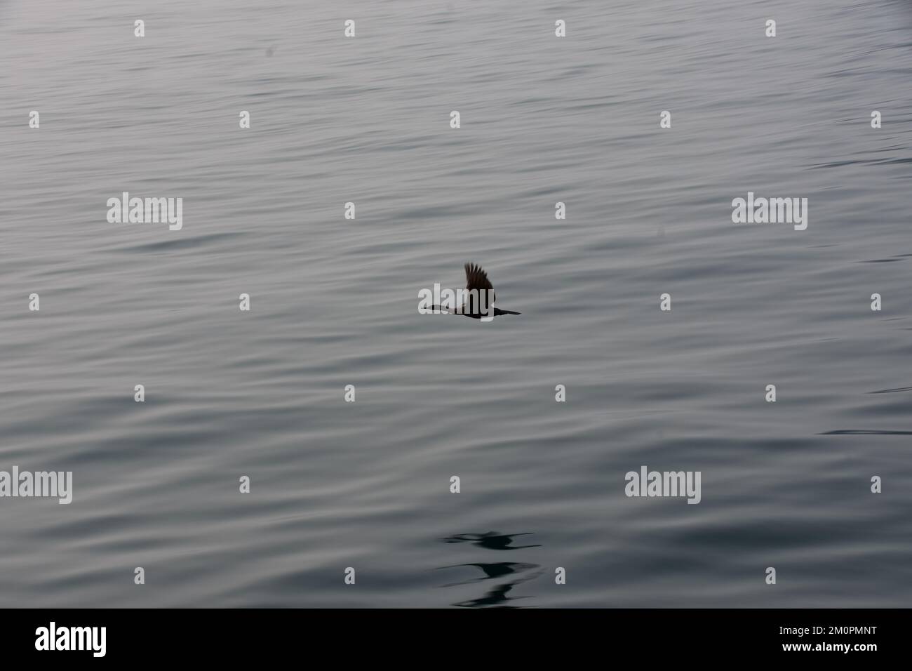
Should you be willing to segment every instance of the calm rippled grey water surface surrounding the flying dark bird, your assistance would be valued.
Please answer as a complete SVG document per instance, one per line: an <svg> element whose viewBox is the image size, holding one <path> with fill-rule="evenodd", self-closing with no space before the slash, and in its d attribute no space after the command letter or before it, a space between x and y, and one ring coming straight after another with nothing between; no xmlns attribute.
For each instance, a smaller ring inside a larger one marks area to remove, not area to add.
<svg viewBox="0 0 912 671"><path fill-rule="evenodd" d="M909 3L7 0L0 63L0 470L74 478L0 605L912 604ZM467 261L522 315L420 315Z"/></svg>

